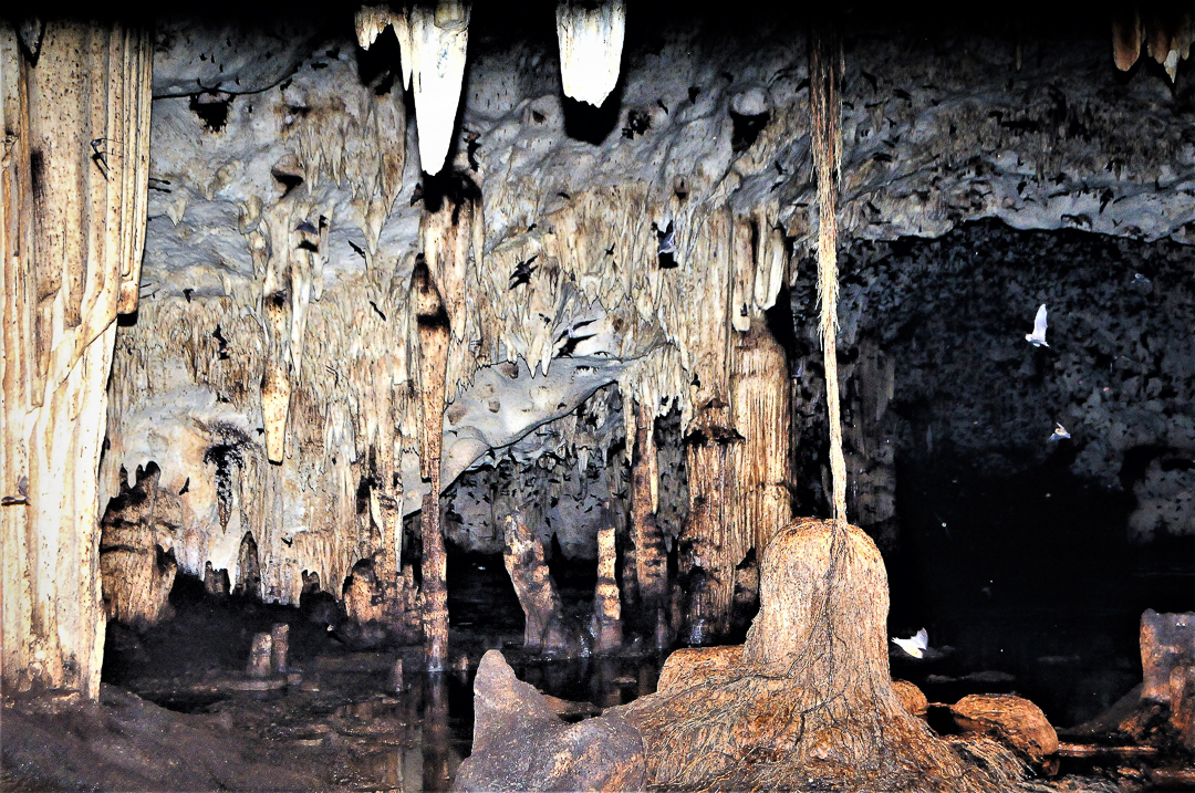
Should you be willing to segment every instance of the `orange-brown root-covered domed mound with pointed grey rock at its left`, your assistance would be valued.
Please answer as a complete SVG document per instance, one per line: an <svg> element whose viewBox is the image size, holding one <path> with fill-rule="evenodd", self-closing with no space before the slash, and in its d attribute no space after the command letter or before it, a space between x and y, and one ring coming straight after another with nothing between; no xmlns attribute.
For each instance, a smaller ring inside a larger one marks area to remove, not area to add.
<svg viewBox="0 0 1195 793"><path fill-rule="evenodd" d="M887 617L871 539L797 521L767 547L747 643L678 651L656 694L570 727L488 653L473 754L454 789L1017 789L1025 767L1007 750L938 738L905 708Z"/></svg>

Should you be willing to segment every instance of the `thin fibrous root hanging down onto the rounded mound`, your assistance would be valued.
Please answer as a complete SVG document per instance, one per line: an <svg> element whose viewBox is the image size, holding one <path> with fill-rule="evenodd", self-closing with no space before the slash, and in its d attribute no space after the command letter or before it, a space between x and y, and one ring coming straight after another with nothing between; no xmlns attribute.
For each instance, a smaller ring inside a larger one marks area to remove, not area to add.
<svg viewBox="0 0 1195 793"><path fill-rule="evenodd" d="M821 297L826 405L829 408L829 468L834 482L834 523L846 523L846 461L839 416L838 216L836 177L842 149L842 99L838 93L841 57L838 37L826 21L809 30L809 105L813 113L814 170L817 172L817 294Z"/></svg>

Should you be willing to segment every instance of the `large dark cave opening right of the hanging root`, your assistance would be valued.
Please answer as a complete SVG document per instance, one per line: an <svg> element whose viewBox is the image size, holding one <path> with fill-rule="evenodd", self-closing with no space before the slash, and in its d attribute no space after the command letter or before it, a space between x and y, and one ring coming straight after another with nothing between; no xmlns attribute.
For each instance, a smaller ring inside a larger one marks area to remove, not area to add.
<svg viewBox="0 0 1195 793"><path fill-rule="evenodd" d="M891 656L931 701L1016 690L1079 724L1141 680L1141 611L1190 609L1195 534L1172 498L1195 448L1190 266L1169 242L998 221L852 246L851 517L887 527L890 634L950 648ZM1049 348L1023 340L1038 303Z"/></svg>

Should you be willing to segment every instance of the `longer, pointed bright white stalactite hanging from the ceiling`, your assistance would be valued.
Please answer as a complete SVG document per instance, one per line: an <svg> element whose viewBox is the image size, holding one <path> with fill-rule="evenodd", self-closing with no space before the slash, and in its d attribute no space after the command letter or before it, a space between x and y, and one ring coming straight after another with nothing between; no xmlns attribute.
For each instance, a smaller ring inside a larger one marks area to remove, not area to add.
<svg viewBox="0 0 1195 793"><path fill-rule="evenodd" d="M456 123L468 47L470 5L461 0L440 0L435 8L413 5L406 13L409 32L394 32L403 47L404 74L413 82L419 165L425 173L436 174L445 165Z"/></svg>

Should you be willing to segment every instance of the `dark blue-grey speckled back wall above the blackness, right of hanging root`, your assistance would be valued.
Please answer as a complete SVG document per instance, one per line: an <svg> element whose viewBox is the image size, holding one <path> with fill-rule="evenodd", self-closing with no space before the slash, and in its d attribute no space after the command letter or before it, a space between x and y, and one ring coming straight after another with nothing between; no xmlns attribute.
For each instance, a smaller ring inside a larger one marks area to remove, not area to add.
<svg viewBox="0 0 1195 793"><path fill-rule="evenodd" d="M896 455L988 479L1053 461L1132 496L1133 541L1195 536L1189 246L983 221L937 240L856 242L845 260L857 491L888 482ZM815 296L792 300L808 312ZM1042 303L1049 346L1035 348L1024 333ZM1055 423L1068 441L1049 441Z"/></svg>

